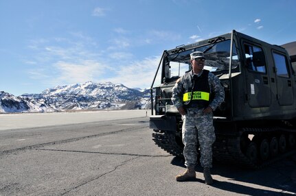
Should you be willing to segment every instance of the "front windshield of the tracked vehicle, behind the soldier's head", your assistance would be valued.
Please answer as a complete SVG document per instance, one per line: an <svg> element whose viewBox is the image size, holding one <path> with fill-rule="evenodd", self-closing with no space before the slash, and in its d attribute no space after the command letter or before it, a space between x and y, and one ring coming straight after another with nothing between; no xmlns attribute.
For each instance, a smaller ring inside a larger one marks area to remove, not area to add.
<svg viewBox="0 0 296 196"><path fill-rule="evenodd" d="M224 40L221 42L216 42L212 45L212 48L205 53L205 66L207 69L215 73L228 73L229 70L229 58L230 58L230 40ZM203 47L196 47L191 50L181 51L180 53L174 53L165 58L165 77L174 78L180 77L186 71L192 69L190 63L190 53L194 51L205 51L210 45ZM236 69L238 67L238 54L236 51L236 45L233 45L232 49L232 64L231 69Z"/></svg>

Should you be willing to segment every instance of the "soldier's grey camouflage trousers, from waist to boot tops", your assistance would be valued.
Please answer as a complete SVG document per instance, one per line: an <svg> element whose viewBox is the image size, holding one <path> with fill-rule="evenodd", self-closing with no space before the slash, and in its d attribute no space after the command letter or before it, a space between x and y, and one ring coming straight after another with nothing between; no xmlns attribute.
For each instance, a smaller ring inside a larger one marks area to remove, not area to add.
<svg viewBox="0 0 296 196"><path fill-rule="evenodd" d="M186 167L194 167L197 160L196 146L201 149L201 167L212 167L212 145L216 139L213 114L203 114L203 109L188 108L182 116L183 155Z"/></svg>

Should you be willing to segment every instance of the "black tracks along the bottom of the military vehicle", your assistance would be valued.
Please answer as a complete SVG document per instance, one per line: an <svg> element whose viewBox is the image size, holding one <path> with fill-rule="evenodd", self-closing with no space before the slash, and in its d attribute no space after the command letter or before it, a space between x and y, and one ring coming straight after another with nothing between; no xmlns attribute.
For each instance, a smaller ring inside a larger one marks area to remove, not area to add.
<svg viewBox="0 0 296 196"><path fill-rule="evenodd" d="M253 134L270 134L275 136L277 131L282 132L291 132L295 133L296 130L285 129L283 127L273 127L273 128L243 128L240 135L243 132L250 132ZM183 145L177 143L176 134L168 131L154 130L152 133L152 140L155 141L155 144L164 149L173 156L179 156L183 158ZM240 137L237 136L226 136L223 134L216 134L216 141L213 145L213 158L218 162L239 164L241 167L261 169L267 167L270 164L278 160L282 160L288 156L291 156L296 153L296 149L288 149L282 154L278 154L274 158L263 162L251 162L249 158L241 151L240 147Z"/></svg>

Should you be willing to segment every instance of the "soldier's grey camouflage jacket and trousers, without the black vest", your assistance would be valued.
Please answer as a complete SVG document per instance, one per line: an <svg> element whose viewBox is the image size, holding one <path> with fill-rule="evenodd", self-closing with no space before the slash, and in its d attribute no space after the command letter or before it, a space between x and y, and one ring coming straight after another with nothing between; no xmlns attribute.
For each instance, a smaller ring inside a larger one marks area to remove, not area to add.
<svg viewBox="0 0 296 196"><path fill-rule="evenodd" d="M198 77L202 73L198 74ZM193 75L193 71L190 72ZM172 88L172 102L176 108L183 106L183 90L186 86L192 86L190 80L185 79L183 75L177 80ZM220 80L211 72L208 74L210 92L214 93L214 99L210 101L209 106L214 110L223 102L225 93ZM212 167L212 144L216 136L213 126L213 114L203 113L203 108L187 108L187 113L182 116L183 127L182 136L186 167L194 167L197 160L196 145L197 140L201 147L201 166Z"/></svg>

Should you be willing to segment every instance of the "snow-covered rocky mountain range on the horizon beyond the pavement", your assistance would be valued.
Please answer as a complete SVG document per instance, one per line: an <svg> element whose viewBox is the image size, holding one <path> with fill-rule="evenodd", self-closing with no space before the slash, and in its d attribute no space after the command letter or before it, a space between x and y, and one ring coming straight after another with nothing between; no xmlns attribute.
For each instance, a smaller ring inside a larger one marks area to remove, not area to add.
<svg viewBox="0 0 296 196"><path fill-rule="evenodd" d="M86 82L56 86L41 94L19 97L0 92L0 112L53 112L65 110L133 110L150 108L149 90L143 92L122 84Z"/></svg>

